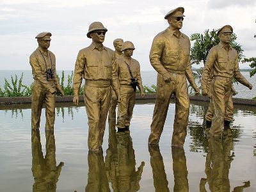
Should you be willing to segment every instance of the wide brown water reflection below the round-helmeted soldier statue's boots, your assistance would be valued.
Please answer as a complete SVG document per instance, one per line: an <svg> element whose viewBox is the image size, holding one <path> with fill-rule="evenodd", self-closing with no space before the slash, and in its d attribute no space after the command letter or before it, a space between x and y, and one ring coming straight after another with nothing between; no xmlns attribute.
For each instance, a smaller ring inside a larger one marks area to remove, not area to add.
<svg viewBox="0 0 256 192"><path fill-rule="evenodd" d="M115 132L115 120L109 122L109 148L106 151L106 174L113 191L139 191L144 162L136 171L130 132Z"/></svg>

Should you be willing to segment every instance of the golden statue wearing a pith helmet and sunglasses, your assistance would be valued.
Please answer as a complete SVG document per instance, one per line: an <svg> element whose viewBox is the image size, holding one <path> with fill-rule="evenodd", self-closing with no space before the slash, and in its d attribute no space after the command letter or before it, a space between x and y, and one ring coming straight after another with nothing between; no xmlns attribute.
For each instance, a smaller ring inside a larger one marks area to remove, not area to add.
<svg viewBox="0 0 256 192"><path fill-rule="evenodd" d="M111 84L120 102L118 83L112 81L114 51L102 45L107 31L101 22L90 24L87 37L92 38L92 44L79 51L74 70L75 104L79 102L79 90L82 79L85 79L83 94L89 124L88 148L93 151L99 151L102 146L111 100Z"/></svg>

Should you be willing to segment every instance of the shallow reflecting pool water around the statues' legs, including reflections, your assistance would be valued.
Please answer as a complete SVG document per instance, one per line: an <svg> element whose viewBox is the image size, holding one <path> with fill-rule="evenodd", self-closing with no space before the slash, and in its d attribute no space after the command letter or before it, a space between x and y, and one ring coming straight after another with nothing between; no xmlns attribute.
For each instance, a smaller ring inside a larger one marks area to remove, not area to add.
<svg viewBox="0 0 256 192"><path fill-rule="evenodd" d="M220 140L204 133L205 105L191 104L184 149L171 147L173 103L159 148L148 148L154 104L147 103L135 105L131 132L116 133L107 121L97 154L88 152L83 104L58 104L47 143L44 111L40 133L31 135L29 105L1 106L0 191L256 191L256 109L235 106Z"/></svg>

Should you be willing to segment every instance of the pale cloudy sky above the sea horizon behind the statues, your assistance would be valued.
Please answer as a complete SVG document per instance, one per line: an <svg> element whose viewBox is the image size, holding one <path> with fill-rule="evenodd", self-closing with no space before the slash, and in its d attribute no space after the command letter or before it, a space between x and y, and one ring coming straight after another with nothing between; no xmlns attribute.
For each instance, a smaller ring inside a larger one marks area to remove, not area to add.
<svg viewBox="0 0 256 192"><path fill-rule="evenodd" d="M114 49L116 38L129 40L141 70L154 70L148 59L152 40L168 27L164 15L178 6L185 8L182 33L191 36L230 24L244 56L255 57L255 0L1 0L0 70L30 70L29 56L38 46L35 36L42 31L52 33L49 50L56 55L57 70L74 70L78 51L92 42L86 33L94 21L108 29L106 47ZM248 68L248 63L239 67Z"/></svg>

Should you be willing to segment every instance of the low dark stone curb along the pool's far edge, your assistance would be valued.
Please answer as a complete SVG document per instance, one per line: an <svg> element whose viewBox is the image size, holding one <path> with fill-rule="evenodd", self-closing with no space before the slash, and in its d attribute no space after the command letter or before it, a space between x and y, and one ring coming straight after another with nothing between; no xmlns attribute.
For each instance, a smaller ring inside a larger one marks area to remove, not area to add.
<svg viewBox="0 0 256 192"><path fill-rule="evenodd" d="M174 96L172 95L172 99ZM140 93L136 94L137 100L150 100L156 99L155 93L146 94L145 97L141 97ZM190 100L206 101L209 102L209 98L202 95L189 95ZM56 96L56 102L72 102L73 96L66 95L63 97ZM84 97L79 96L79 101L83 101ZM246 105L246 106L256 106L256 99L242 99L242 98L233 98L234 104ZM30 104L31 97L0 97L0 105L9 105L9 104Z"/></svg>

